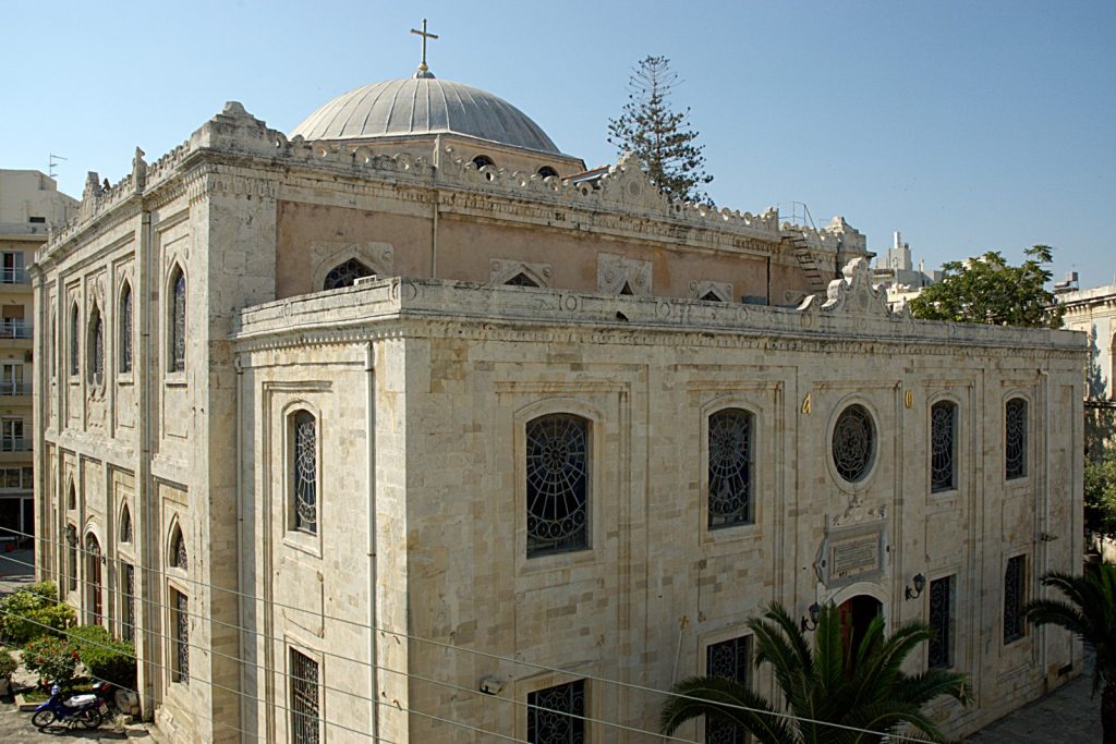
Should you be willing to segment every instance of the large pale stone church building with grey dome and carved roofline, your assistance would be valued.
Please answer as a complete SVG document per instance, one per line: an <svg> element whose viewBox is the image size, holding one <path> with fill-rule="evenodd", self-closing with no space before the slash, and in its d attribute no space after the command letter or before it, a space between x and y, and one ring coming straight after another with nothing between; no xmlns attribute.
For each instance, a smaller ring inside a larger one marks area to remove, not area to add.
<svg viewBox="0 0 1116 744"><path fill-rule="evenodd" d="M773 600L930 622L963 735L1081 669L1020 608L1080 566L1085 340L913 320L869 258L425 64L229 103L31 268L38 570L175 742L660 741L679 679L776 693Z"/></svg>

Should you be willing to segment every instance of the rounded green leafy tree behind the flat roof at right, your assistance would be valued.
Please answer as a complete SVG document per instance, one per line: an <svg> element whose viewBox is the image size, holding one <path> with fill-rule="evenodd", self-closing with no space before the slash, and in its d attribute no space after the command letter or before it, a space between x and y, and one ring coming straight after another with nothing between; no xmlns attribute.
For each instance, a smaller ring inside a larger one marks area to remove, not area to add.
<svg viewBox="0 0 1116 744"><path fill-rule="evenodd" d="M1024 254L1027 260L1018 267L998 251L943 264L944 278L911 300L911 315L924 320L1060 327L1061 308L1045 287L1051 277L1046 265L1054 260L1054 249L1035 245Z"/></svg>

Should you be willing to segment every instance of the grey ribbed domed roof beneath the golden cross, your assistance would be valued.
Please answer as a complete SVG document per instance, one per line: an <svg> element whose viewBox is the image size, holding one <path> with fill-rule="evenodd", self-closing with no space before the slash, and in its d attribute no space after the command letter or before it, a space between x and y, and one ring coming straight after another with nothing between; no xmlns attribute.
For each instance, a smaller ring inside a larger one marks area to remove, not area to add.
<svg viewBox="0 0 1116 744"><path fill-rule="evenodd" d="M290 133L305 139L368 139L456 133L560 155L550 137L503 98L452 80L373 83L334 98Z"/></svg>

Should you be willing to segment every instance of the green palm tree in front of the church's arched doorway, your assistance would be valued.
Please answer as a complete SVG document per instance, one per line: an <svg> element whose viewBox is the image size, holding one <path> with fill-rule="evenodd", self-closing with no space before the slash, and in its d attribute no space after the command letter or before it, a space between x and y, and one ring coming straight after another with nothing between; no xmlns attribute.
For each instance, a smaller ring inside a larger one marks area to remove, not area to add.
<svg viewBox="0 0 1116 744"><path fill-rule="evenodd" d="M811 649L805 631L772 602L748 627L754 634L756 667L771 665L789 712L745 684L691 677L674 685L675 697L663 705L664 734L704 715L745 728L764 744L868 744L904 725L943 742L922 707L940 695L965 703L964 675L930 669L912 676L899 670L907 655L933 637L930 626L906 625L885 637L883 618L876 617L856 648L846 648L837 608L829 605L821 608Z"/></svg>

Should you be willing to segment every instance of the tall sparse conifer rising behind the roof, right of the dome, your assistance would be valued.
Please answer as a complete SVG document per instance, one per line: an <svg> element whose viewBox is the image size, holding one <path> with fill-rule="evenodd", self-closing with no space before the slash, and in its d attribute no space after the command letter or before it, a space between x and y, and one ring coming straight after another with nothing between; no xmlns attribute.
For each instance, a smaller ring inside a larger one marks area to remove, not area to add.
<svg viewBox="0 0 1116 744"><path fill-rule="evenodd" d="M671 109L668 98L679 81L666 57L644 57L632 70L628 102L623 113L608 119L608 143L619 154L632 152L647 166L647 175L672 199L711 203L700 189L713 181L704 172L704 145L686 126L685 112Z"/></svg>

